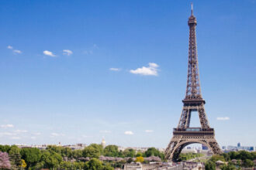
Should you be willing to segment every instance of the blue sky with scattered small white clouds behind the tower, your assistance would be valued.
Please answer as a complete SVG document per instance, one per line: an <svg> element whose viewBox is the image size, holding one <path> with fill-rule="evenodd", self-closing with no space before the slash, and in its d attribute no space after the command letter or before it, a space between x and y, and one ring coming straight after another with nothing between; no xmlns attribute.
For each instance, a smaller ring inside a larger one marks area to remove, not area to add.
<svg viewBox="0 0 256 170"><path fill-rule="evenodd" d="M193 3L216 139L256 146L256 2ZM1 1L0 143L165 148L185 97L189 15L189 1Z"/></svg>

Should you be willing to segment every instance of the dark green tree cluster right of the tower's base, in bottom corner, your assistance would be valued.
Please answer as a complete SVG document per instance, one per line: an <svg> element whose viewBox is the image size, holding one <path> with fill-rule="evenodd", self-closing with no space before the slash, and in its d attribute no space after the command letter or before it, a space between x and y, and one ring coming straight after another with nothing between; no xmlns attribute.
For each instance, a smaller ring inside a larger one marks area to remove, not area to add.
<svg viewBox="0 0 256 170"><path fill-rule="evenodd" d="M206 170L215 170L219 166L222 170L235 170L241 168L252 168L256 160L256 151L230 151L222 155L213 155L206 162ZM223 164L218 165L216 162L221 161Z"/></svg>

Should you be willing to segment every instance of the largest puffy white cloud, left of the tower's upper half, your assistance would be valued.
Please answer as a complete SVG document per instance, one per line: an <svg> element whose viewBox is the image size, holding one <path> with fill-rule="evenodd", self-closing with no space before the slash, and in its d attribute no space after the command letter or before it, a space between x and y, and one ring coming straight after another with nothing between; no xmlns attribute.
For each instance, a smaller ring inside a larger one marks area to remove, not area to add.
<svg viewBox="0 0 256 170"><path fill-rule="evenodd" d="M142 66L141 68L137 68L136 70L130 70L130 73L140 74L144 76L157 76L157 67L159 67L156 63L148 63L148 66Z"/></svg>

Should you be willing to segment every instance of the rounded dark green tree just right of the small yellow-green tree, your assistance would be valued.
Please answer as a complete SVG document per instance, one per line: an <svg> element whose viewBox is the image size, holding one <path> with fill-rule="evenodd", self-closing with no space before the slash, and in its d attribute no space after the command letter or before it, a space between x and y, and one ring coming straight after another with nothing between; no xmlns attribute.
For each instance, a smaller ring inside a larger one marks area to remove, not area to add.
<svg viewBox="0 0 256 170"><path fill-rule="evenodd" d="M25 160L28 167L36 165L40 161L41 152L38 148L22 148L20 151L22 159Z"/></svg>

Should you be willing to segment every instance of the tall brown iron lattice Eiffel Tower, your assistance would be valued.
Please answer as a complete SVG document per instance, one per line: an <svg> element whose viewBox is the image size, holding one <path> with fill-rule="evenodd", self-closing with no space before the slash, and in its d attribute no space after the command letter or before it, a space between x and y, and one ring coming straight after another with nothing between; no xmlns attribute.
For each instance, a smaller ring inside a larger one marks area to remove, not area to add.
<svg viewBox="0 0 256 170"><path fill-rule="evenodd" d="M178 155L185 146L199 143L206 145L213 154L220 154L214 129L209 127L204 105L206 101L202 99L199 83L199 63L197 58L195 26L196 19L193 15L193 8L189 17L189 69L185 99L183 102L182 115L178 122L178 127L173 130L173 137L165 150L165 158L168 161L177 162ZM201 128L190 127L192 111L199 113Z"/></svg>

